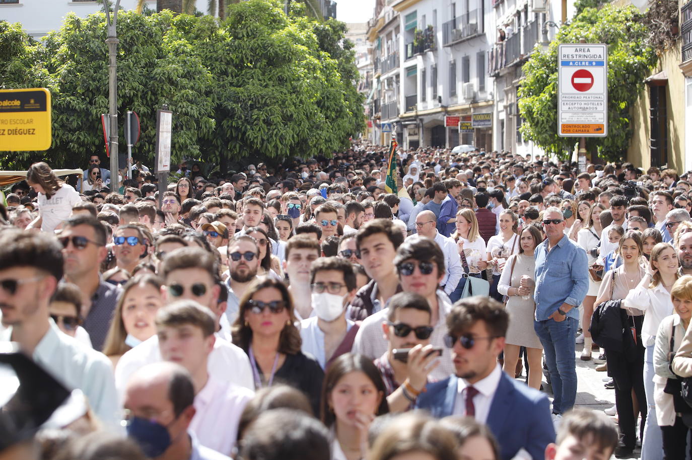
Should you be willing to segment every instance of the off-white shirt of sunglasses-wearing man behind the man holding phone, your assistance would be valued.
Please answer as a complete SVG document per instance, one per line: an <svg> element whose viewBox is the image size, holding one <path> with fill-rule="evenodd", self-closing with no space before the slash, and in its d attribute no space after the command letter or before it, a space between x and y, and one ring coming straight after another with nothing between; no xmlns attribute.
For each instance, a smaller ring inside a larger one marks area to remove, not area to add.
<svg viewBox="0 0 692 460"><path fill-rule="evenodd" d="M439 320L433 326L435 329L432 331L432 335L430 335L430 343L435 347L442 348L442 356L439 365L430 372L430 377L435 380L442 380L453 374L455 369L451 351L444 346L444 336L447 333L446 318L452 309L452 304L449 301L449 297L439 290L437 291L437 309ZM382 332L382 323L387 321L388 313L389 309L384 309L373 313L363 320L358 333L356 333L351 353L365 355L374 360L387 351L389 342Z"/></svg>

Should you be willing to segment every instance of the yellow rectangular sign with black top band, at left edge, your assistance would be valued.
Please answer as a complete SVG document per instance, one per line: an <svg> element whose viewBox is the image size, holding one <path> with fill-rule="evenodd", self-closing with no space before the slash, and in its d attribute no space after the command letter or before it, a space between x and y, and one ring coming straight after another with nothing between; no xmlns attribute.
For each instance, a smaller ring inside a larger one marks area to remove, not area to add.
<svg viewBox="0 0 692 460"><path fill-rule="evenodd" d="M51 93L0 89L0 151L47 150L51 140Z"/></svg>

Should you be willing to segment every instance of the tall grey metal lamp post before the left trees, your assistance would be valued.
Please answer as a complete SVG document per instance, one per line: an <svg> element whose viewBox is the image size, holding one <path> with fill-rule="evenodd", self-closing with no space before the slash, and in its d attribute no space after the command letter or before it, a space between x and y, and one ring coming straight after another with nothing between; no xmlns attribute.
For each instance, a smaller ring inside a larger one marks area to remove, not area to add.
<svg viewBox="0 0 692 460"><path fill-rule="evenodd" d="M118 38L116 33L116 24L118 21L118 8L120 0L116 0L116 6L113 8L113 19L111 20L111 12L108 8L108 2L104 1L103 8L106 10L106 21L108 24L108 37L106 44L108 45L108 93L111 133L108 139L109 152L111 155L111 192L118 192L120 184L118 183L118 86L116 79L116 53L118 52Z"/></svg>

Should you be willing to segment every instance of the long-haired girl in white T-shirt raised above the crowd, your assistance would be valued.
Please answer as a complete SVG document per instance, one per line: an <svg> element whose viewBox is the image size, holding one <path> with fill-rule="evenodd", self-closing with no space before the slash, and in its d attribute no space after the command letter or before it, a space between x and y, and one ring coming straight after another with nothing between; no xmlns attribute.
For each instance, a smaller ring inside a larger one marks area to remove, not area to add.
<svg viewBox="0 0 692 460"><path fill-rule="evenodd" d="M26 230L40 228L42 232L53 233L70 217L72 206L82 202L77 190L57 178L53 169L42 161L31 165L26 183L39 194L39 217Z"/></svg>

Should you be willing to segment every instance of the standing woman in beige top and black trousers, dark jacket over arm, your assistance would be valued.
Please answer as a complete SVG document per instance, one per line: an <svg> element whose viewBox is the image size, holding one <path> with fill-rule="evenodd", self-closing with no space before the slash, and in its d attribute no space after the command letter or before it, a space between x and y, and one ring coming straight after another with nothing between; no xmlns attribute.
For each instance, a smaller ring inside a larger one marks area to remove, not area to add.
<svg viewBox="0 0 692 460"><path fill-rule="evenodd" d="M594 305L607 300L622 300L620 306L627 310L623 324L625 338L631 340L626 351L605 349L605 359L608 364L608 374L614 379L615 406L618 414L620 443L615 455L631 454L637 441L637 417L632 407L638 407L641 412L640 438L644 434L646 422L646 394L644 392L644 345L641 341L641 325L644 322L643 312L636 308L628 308L625 300L628 293L635 289L646 275L641 261L644 248L641 244L641 233L636 230L625 232L617 247L617 257L623 263L618 268L608 270L603 276L599 295ZM614 277L614 282L613 282ZM628 336L629 335L629 336ZM625 345L623 344L623 347ZM634 394L634 398L632 397ZM634 406L633 406L634 404Z"/></svg>

